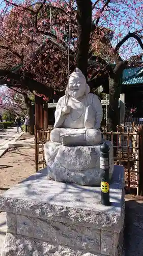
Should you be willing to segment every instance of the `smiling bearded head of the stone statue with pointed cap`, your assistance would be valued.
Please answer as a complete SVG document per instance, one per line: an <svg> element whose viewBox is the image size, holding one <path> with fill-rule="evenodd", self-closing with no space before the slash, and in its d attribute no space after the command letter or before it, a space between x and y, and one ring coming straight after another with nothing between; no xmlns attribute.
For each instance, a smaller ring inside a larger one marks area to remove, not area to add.
<svg viewBox="0 0 143 256"><path fill-rule="evenodd" d="M75 99L82 97L84 94L90 93L90 87L87 84L85 76L82 74L81 70L76 68L69 77L69 95ZM66 89L66 94L68 89Z"/></svg>

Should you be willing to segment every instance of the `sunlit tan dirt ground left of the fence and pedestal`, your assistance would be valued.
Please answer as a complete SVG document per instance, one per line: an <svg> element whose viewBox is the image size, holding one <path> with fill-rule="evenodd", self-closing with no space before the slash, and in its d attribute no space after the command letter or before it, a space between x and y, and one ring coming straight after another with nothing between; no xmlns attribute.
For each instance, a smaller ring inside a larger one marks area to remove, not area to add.
<svg viewBox="0 0 143 256"><path fill-rule="evenodd" d="M35 173L35 149L10 149L0 158L0 191L6 190Z"/></svg>

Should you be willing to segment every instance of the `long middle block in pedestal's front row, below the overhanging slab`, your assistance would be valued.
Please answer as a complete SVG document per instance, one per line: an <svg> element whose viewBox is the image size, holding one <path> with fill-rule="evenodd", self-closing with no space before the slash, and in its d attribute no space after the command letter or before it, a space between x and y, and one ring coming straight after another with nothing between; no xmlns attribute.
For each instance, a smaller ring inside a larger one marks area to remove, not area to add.
<svg viewBox="0 0 143 256"><path fill-rule="evenodd" d="M51 220L17 215L17 234L72 246L79 250L100 252L100 230Z"/></svg>

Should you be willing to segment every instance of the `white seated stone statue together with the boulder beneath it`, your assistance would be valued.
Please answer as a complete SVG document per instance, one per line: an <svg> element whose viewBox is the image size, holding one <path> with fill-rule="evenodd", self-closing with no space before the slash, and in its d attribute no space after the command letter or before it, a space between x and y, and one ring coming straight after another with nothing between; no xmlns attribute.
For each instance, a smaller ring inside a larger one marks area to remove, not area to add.
<svg viewBox="0 0 143 256"><path fill-rule="evenodd" d="M90 93L79 69L70 75L65 96L59 99L55 111L54 129L44 145L48 179L100 185L100 145L110 146L109 173L113 172L113 147L101 139L102 105Z"/></svg>

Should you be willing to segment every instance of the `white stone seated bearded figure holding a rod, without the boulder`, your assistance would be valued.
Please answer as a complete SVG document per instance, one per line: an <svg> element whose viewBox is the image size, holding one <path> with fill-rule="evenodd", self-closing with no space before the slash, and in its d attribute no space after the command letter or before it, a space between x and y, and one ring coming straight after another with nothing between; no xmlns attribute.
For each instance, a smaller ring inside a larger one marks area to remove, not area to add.
<svg viewBox="0 0 143 256"><path fill-rule="evenodd" d="M84 75L76 68L70 75L66 95L57 103L50 140L63 145L98 144L101 121L101 102L96 95L90 94Z"/></svg>

